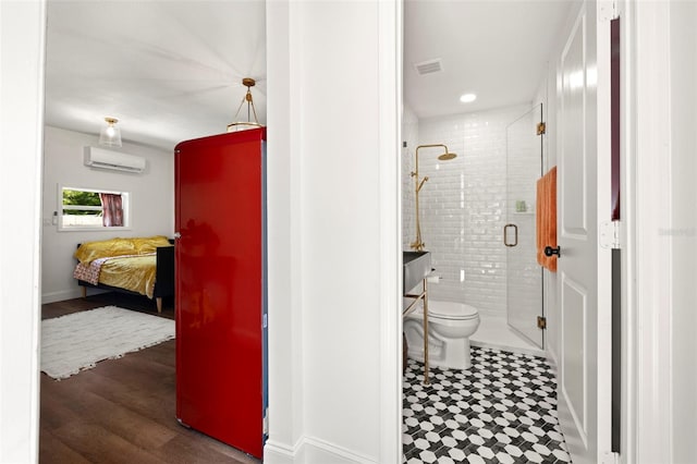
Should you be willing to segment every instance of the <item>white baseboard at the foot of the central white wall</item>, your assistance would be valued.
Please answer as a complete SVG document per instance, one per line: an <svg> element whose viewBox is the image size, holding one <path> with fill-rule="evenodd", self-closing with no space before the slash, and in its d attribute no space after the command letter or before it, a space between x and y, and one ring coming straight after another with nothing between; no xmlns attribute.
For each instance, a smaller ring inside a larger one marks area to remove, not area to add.
<svg viewBox="0 0 697 464"><path fill-rule="evenodd" d="M268 440L264 447L264 463L376 464L377 461L329 441L303 437L295 447Z"/></svg>

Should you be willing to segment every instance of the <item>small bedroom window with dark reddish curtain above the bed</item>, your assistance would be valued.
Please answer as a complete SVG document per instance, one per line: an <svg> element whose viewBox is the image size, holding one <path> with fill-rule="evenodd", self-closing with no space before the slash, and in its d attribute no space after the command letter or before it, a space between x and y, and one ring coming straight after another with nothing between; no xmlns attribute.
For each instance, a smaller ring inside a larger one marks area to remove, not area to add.
<svg viewBox="0 0 697 464"><path fill-rule="evenodd" d="M61 186L57 216L59 230L127 229L129 194Z"/></svg>

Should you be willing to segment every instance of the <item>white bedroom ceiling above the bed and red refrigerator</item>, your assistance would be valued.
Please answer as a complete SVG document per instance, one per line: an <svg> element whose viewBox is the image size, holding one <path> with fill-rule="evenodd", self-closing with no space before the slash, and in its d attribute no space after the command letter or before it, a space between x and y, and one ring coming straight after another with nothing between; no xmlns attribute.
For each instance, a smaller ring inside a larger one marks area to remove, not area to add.
<svg viewBox="0 0 697 464"><path fill-rule="evenodd" d="M49 1L46 123L97 141L113 117L124 142L172 150L225 132L243 77L264 122L265 14L262 0Z"/></svg>

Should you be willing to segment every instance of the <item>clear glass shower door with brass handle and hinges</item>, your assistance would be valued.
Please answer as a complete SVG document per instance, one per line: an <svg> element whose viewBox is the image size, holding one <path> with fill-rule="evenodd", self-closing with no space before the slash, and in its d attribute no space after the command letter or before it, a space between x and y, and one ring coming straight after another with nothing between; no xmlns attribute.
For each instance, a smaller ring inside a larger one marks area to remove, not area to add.
<svg viewBox="0 0 697 464"><path fill-rule="evenodd" d="M506 127L508 322L540 349L543 330L542 268L537 264L536 191L542 171L542 106L538 105Z"/></svg>

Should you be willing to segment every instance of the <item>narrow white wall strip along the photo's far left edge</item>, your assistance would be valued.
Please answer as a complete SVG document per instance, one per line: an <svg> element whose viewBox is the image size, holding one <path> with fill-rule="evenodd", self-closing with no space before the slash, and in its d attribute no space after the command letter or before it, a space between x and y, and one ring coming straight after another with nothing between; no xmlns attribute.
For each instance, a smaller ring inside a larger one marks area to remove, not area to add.
<svg viewBox="0 0 697 464"><path fill-rule="evenodd" d="M45 1L0 2L0 462L38 460ZM12 218L10 224L8 219Z"/></svg>

